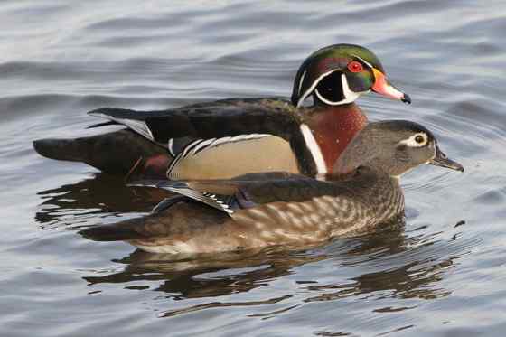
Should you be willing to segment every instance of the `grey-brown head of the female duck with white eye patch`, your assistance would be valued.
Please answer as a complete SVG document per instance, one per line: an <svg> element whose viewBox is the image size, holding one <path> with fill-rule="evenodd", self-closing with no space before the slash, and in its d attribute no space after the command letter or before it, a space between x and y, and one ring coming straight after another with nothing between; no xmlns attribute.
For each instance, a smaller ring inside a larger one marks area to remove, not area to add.
<svg viewBox="0 0 506 337"><path fill-rule="evenodd" d="M420 164L433 164L464 172L449 159L435 136L415 122L389 120L372 122L351 140L333 166L334 173L351 173L359 166L399 176Z"/></svg>

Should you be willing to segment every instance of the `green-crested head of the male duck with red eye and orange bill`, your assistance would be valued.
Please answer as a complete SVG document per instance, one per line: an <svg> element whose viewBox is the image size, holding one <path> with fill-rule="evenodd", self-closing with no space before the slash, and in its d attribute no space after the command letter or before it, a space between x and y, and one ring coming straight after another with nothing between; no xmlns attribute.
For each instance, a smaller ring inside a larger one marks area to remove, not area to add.
<svg viewBox="0 0 506 337"><path fill-rule="evenodd" d="M315 104L337 106L353 102L370 90L411 103L411 98L386 79L372 51L354 44L334 44L315 51L299 68L292 103L300 107L313 95Z"/></svg>

